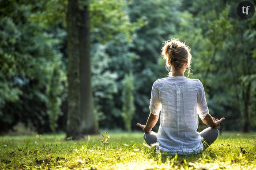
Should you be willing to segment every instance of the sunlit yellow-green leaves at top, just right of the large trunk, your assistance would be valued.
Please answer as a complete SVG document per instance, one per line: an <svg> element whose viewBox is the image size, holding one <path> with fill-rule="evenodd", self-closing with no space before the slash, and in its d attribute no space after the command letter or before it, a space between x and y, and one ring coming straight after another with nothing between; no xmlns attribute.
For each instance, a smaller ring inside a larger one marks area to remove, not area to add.
<svg viewBox="0 0 256 170"><path fill-rule="evenodd" d="M120 41L118 37L121 34L125 40L131 42L135 27L129 20L127 7L128 3L125 0L91 0L92 40L103 44Z"/></svg>

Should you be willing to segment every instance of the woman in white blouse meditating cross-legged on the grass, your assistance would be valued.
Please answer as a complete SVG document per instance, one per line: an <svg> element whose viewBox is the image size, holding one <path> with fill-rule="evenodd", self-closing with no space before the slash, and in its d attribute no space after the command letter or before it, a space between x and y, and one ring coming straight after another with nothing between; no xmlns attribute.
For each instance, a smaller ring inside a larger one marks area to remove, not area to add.
<svg viewBox="0 0 256 170"><path fill-rule="evenodd" d="M166 66L171 67L169 77L154 82L150 100L150 115L146 125L137 123L145 133L148 145L156 144L160 151L169 154L188 155L199 153L218 137L220 120L211 117L205 99L203 85L199 80L184 77L190 73L190 48L179 41L166 41L162 48ZM158 121L158 133L151 131ZM208 127L198 133L198 117Z"/></svg>

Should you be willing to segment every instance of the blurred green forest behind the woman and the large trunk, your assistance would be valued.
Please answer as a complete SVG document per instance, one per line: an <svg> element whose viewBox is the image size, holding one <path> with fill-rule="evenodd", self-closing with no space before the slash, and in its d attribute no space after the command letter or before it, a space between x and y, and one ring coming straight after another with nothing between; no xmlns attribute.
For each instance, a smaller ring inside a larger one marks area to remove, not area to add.
<svg viewBox="0 0 256 170"><path fill-rule="evenodd" d="M222 129L255 131L256 16L240 18L240 2L89 0L98 127L146 123L151 87L168 74L162 42L174 37L191 47L189 78L203 83L211 115L226 118ZM67 13L68 0L0 0L0 134L67 131Z"/></svg>

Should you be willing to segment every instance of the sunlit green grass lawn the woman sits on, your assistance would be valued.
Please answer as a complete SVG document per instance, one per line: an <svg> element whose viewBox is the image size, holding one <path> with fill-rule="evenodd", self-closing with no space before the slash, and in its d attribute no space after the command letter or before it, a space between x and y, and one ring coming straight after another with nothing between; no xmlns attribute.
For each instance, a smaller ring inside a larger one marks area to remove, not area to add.
<svg viewBox="0 0 256 170"><path fill-rule="evenodd" d="M0 136L0 169L256 169L256 133L225 132L196 155L158 154L143 144L142 133L111 133L84 141L65 141L64 134Z"/></svg>

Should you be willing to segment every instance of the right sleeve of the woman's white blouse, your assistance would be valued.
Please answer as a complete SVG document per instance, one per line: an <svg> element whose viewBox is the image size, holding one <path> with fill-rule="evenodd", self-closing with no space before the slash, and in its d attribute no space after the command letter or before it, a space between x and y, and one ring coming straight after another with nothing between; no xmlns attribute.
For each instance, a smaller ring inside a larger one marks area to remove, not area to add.
<svg viewBox="0 0 256 170"><path fill-rule="evenodd" d="M205 92L203 89L203 84L200 82L197 93L197 108L199 111L197 112L200 118L205 118L205 116L209 113L209 109L207 106Z"/></svg>

